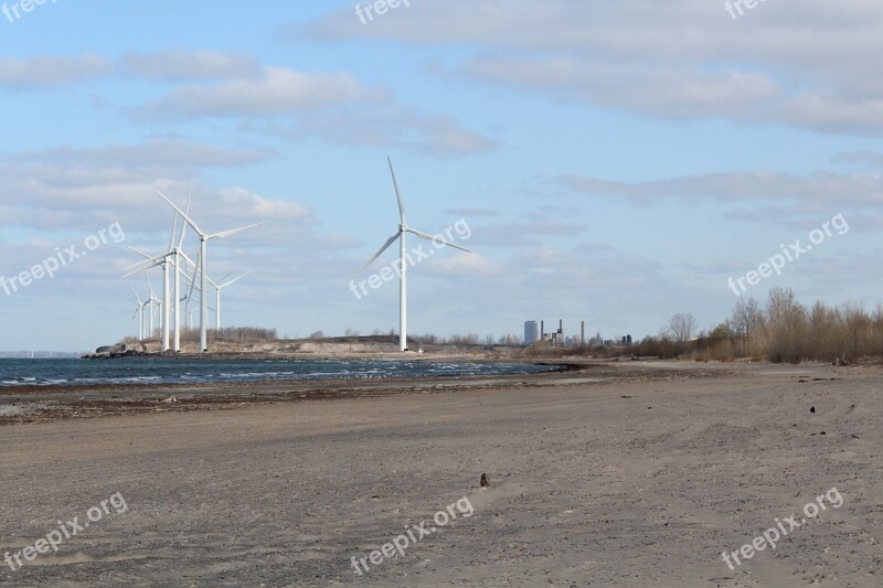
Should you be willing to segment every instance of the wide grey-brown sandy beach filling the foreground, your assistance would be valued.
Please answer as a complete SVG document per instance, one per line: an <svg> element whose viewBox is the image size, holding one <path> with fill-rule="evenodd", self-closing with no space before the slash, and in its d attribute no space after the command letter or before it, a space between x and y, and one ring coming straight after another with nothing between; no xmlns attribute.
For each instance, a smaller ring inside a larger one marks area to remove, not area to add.
<svg viewBox="0 0 883 588"><path fill-rule="evenodd" d="M880 367L598 362L255 387L93 391L93 410L0 426L0 555L105 501L0 584L883 582ZM469 516L446 511L464 499ZM792 514L775 548L722 558ZM422 523L436 531L372 563Z"/></svg>

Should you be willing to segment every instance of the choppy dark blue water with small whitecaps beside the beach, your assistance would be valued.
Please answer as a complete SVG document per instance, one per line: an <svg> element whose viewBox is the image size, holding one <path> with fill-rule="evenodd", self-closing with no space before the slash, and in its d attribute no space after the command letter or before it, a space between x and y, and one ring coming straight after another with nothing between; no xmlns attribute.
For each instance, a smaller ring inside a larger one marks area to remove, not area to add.
<svg viewBox="0 0 883 588"><path fill-rule="evenodd" d="M96 384L192 384L500 375L553 370L521 363L407 360L2 360L0 386L89 386Z"/></svg>

